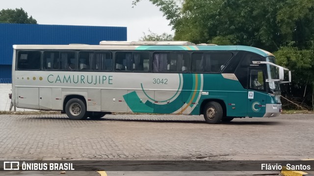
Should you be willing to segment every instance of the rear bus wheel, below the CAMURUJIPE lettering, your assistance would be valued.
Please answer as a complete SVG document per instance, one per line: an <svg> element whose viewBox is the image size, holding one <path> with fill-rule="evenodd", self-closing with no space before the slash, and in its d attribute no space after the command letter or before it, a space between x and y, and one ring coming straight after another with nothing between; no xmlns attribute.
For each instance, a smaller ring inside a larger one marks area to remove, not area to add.
<svg viewBox="0 0 314 176"><path fill-rule="evenodd" d="M65 105L65 112L71 120L86 119L86 106L81 99L72 98Z"/></svg>

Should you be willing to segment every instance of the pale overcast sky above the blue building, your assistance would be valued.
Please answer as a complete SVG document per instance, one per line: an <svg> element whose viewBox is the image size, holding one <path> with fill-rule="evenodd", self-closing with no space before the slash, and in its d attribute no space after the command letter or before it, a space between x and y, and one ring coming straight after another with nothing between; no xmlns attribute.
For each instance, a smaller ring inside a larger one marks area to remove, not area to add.
<svg viewBox="0 0 314 176"><path fill-rule="evenodd" d="M123 26L128 41L137 41L143 32L173 34L159 8L142 0L1 0L1 9L23 8L38 24ZM0 9L0 10L1 10Z"/></svg>

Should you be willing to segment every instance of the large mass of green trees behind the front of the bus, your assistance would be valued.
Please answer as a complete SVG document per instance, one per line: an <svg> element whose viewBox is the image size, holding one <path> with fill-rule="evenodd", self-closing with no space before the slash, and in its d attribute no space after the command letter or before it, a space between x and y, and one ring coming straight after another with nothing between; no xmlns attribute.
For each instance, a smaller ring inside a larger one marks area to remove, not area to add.
<svg viewBox="0 0 314 176"><path fill-rule="evenodd" d="M314 0L149 1L170 21L174 40L274 52L277 62L292 70L293 92L288 94L313 96L305 88L314 89Z"/></svg>

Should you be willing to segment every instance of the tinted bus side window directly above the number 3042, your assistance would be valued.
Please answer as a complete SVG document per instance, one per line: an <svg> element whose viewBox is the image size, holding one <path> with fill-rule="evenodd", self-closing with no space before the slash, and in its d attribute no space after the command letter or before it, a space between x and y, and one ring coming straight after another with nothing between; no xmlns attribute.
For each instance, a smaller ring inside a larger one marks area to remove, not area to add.
<svg viewBox="0 0 314 176"><path fill-rule="evenodd" d="M187 52L154 53L154 72L185 73L189 68L189 54Z"/></svg>

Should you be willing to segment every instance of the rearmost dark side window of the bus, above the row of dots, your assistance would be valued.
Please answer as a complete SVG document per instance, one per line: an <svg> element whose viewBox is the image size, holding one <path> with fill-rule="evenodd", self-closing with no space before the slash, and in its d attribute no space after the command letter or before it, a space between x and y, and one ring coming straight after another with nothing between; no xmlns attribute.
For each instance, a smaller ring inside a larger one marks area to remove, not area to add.
<svg viewBox="0 0 314 176"><path fill-rule="evenodd" d="M40 69L40 51L19 51L18 69L20 70L39 70Z"/></svg>

